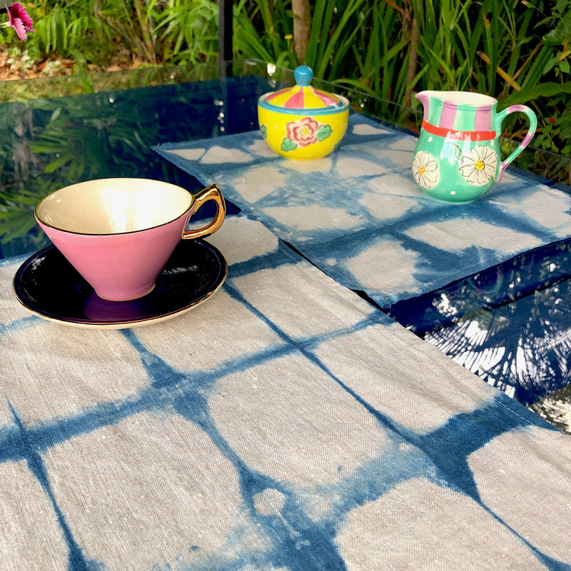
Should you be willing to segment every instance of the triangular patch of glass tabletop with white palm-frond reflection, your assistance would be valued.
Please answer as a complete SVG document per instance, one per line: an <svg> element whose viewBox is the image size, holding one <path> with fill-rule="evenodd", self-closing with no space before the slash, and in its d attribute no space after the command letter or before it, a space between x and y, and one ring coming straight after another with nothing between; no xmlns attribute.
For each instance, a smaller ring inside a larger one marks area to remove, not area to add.
<svg viewBox="0 0 571 571"><path fill-rule="evenodd" d="M567 239L397 303L388 314L569 431L570 268Z"/></svg>

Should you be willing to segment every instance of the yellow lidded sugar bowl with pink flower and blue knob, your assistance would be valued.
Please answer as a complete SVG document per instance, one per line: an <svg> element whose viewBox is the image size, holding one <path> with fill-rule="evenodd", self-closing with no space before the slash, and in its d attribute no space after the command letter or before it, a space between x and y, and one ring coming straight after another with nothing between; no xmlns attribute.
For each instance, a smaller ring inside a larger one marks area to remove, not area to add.
<svg viewBox="0 0 571 571"><path fill-rule="evenodd" d="M258 99L258 122L276 153L301 161L333 151L347 129L349 101L310 86L313 71L295 69L295 87L273 91Z"/></svg>

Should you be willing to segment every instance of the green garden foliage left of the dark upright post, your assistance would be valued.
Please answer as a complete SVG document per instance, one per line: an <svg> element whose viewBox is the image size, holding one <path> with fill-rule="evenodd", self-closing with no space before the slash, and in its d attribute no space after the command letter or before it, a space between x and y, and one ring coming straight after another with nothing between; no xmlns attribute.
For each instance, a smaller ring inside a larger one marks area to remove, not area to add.
<svg viewBox="0 0 571 571"><path fill-rule="evenodd" d="M216 60L218 4L211 0L39 0L23 2L35 33L25 42L33 60L73 59L74 72L116 57L146 64ZM21 49L11 30L7 49Z"/></svg>

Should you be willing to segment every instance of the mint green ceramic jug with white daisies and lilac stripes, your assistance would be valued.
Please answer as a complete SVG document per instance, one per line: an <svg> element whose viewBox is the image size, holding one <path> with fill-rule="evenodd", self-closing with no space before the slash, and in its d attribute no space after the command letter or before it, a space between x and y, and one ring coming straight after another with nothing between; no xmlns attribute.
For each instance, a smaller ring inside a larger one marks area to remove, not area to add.
<svg viewBox="0 0 571 571"><path fill-rule="evenodd" d="M512 105L497 113L497 100L468 91L420 91L423 124L413 158L418 186L437 201L465 204L475 201L500 182L502 174L530 143L537 128L535 113ZM498 138L510 113L525 113L530 127L505 161Z"/></svg>

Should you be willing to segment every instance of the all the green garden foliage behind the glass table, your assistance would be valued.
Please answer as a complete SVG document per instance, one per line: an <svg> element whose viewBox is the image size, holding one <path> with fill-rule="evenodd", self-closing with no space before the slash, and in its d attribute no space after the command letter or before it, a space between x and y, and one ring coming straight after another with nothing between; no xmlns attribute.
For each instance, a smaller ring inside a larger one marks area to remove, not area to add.
<svg viewBox="0 0 571 571"><path fill-rule="evenodd" d="M571 0L309 0L303 63L316 78L415 106L423 89L479 91L500 108L535 107L535 144L571 154ZM215 62L213 0L24 2L36 33L29 61L74 61L82 73L125 65ZM295 68L291 0L236 0L236 57ZM5 49L21 50L11 30ZM46 66L49 71L49 65ZM522 128L512 125L514 131ZM516 133L517 134L517 133Z"/></svg>

